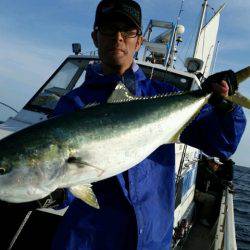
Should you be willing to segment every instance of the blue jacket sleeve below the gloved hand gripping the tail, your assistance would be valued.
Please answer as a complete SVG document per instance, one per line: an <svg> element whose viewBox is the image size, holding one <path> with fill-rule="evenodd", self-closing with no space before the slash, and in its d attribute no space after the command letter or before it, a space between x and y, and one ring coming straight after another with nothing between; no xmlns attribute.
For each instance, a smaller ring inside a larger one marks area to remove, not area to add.
<svg viewBox="0 0 250 250"><path fill-rule="evenodd" d="M207 104L181 134L180 140L210 156L229 158L237 149L246 127L240 106L221 113Z"/></svg>

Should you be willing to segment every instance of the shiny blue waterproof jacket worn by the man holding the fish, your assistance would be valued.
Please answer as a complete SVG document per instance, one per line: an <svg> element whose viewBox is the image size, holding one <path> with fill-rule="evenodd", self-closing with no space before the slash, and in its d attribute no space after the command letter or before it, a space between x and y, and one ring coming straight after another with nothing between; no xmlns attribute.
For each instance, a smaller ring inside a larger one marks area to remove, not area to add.
<svg viewBox="0 0 250 250"><path fill-rule="evenodd" d="M117 82L137 96L173 92L166 83L146 79L137 65L123 77L104 76L89 66L85 83L62 97L55 115L73 112L93 102L105 103ZM246 119L240 107L219 115L207 105L183 132L181 140L209 155L229 157L242 136ZM112 149L111 149L112 150ZM93 184L97 210L70 193L53 249L158 250L169 249L175 197L175 148L163 145L123 174Z"/></svg>

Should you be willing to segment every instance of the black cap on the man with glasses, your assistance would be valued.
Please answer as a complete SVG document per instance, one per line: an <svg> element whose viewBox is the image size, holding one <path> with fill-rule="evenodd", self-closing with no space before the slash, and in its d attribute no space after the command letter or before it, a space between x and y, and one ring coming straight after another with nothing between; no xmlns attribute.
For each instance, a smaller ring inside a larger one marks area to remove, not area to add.
<svg viewBox="0 0 250 250"><path fill-rule="evenodd" d="M102 0L95 15L94 28L100 26L102 22L127 18L131 23L141 30L141 7L133 0Z"/></svg>

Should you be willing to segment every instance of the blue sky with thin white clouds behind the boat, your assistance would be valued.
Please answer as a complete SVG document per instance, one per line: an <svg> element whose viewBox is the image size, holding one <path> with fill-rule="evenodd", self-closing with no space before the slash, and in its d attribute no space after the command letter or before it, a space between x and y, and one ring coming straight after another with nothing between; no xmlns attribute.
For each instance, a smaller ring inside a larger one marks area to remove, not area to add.
<svg viewBox="0 0 250 250"><path fill-rule="evenodd" d="M176 21L181 0L141 0L143 25L149 19ZM202 0L185 0L180 23L185 26L179 57L192 53ZM210 0L209 13L225 1ZM0 102L19 110L80 42L94 50L90 33L97 0L0 0ZM221 17L215 72L237 71L250 61L250 1L227 1ZM180 61L181 63L181 61ZM250 97L250 81L240 88ZM0 105L0 120L14 115ZM246 111L250 120L250 112ZM250 167L250 126L233 159Z"/></svg>

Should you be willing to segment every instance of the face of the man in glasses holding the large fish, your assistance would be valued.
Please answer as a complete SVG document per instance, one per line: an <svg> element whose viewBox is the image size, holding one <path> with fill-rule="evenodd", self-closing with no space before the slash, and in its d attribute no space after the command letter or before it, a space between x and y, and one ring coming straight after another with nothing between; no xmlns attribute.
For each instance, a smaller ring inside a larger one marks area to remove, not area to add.
<svg viewBox="0 0 250 250"><path fill-rule="evenodd" d="M109 67L131 65L139 50L142 37L138 29L125 22L106 22L92 33L102 63Z"/></svg>

